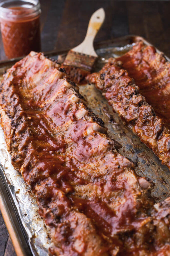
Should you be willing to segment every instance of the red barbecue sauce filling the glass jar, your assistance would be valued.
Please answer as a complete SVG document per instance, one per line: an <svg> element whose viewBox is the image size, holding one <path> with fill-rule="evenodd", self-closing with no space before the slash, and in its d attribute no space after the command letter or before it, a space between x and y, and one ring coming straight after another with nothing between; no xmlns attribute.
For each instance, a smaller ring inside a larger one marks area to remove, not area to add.
<svg viewBox="0 0 170 256"><path fill-rule="evenodd" d="M15 15L22 18L12 19L11 15L1 18L1 34L5 54L8 58L20 57L28 54L31 50L40 51L40 16L27 15L29 8L11 7ZM16 12L16 10L18 12ZM26 17L24 17L24 15Z"/></svg>

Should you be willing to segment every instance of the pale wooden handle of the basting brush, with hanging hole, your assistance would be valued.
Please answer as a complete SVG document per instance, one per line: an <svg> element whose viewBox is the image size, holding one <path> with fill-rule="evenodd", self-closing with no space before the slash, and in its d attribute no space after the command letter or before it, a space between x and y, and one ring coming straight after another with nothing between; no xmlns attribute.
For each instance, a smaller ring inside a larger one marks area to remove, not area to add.
<svg viewBox="0 0 170 256"><path fill-rule="evenodd" d="M103 24L104 19L105 11L103 8L100 8L97 11L95 11L90 18L84 41L72 50L97 57L97 54L95 53L93 47L93 41L101 25Z"/></svg>

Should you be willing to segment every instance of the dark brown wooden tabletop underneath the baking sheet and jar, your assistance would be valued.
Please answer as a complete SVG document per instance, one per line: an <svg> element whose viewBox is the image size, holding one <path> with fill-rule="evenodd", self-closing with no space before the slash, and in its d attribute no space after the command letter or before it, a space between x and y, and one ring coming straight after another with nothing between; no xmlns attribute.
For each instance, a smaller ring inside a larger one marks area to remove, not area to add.
<svg viewBox="0 0 170 256"><path fill-rule="evenodd" d="M170 1L40 0L42 51L72 48L84 39L92 13L106 18L96 41L127 34L145 37L170 57ZM0 38L0 58L5 59ZM0 256L16 255L0 214Z"/></svg>

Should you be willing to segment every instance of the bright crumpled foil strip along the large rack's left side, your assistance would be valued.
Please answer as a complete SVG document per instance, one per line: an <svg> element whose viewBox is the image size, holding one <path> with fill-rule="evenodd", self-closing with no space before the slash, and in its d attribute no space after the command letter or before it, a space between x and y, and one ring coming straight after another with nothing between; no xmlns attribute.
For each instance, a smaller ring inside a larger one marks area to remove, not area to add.
<svg viewBox="0 0 170 256"><path fill-rule="evenodd" d="M28 234L30 245L35 255L48 255L50 238L44 220L38 214L35 196L25 184L21 174L11 164L7 151L4 133L0 127L0 160L4 167L5 177L10 189L13 189L14 199L20 213L22 224ZM12 209L11 209L12 210Z"/></svg>

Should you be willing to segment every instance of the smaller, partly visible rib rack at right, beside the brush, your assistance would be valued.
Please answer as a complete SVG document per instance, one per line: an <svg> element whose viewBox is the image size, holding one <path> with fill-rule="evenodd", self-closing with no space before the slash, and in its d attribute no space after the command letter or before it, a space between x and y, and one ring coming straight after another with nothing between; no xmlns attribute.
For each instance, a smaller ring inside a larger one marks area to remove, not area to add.
<svg viewBox="0 0 170 256"><path fill-rule="evenodd" d="M102 90L113 111L170 169L169 74L170 63L162 53L139 42L87 79Z"/></svg>

